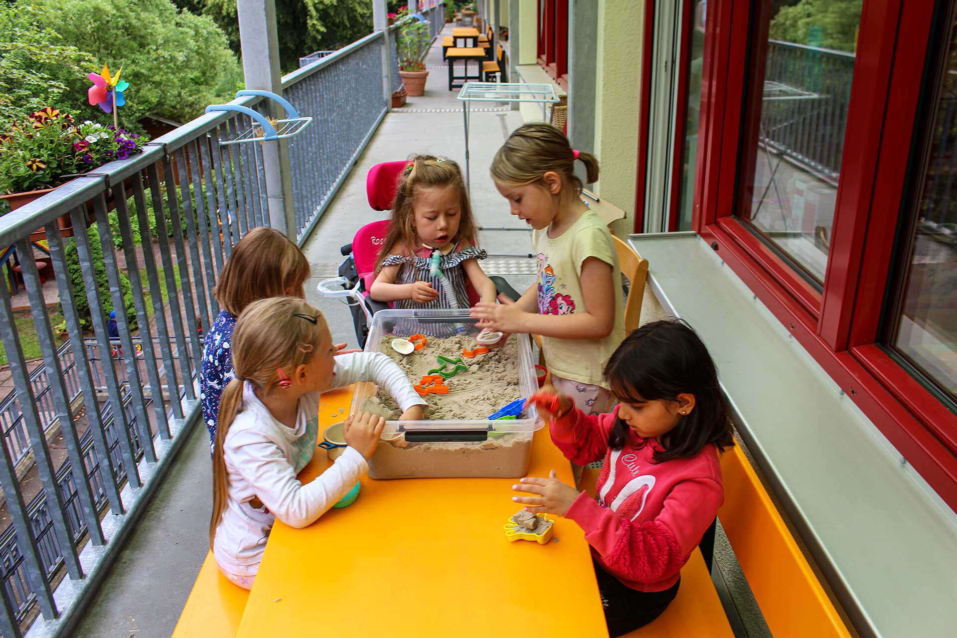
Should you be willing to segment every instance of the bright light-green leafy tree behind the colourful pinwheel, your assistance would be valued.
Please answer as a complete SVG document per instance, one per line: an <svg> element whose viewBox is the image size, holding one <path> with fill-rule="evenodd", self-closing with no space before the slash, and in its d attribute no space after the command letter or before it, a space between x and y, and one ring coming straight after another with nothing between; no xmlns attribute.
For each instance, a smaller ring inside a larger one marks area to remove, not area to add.
<svg viewBox="0 0 957 638"><path fill-rule="evenodd" d="M86 74L123 68L130 82L126 124L144 116L189 121L207 104L234 97L241 77L235 56L211 18L178 11L169 0L36 0L45 9L43 22L84 52L93 65L64 84L74 112L95 116L86 102ZM96 109L96 111L94 111Z"/></svg>

